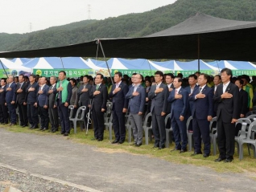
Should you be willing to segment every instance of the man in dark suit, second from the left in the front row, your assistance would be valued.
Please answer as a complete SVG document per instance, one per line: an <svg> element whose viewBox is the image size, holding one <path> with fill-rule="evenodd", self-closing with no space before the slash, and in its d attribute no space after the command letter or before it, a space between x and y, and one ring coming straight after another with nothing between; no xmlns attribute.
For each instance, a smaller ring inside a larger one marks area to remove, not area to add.
<svg viewBox="0 0 256 192"><path fill-rule="evenodd" d="M10 114L10 126L16 125L16 88L14 83L14 76L8 77L8 84L6 87L6 104Z"/></svg>

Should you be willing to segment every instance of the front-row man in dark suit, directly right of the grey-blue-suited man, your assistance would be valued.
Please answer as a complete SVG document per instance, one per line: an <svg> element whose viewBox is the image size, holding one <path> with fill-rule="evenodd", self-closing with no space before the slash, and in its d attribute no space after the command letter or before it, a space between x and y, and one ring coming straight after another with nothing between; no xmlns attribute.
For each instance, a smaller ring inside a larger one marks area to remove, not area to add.
<svg viewBox="0 0 256 192"><path fill-rule="evenodd" d="M155 85L151 86L151 91L148 93L148 99L151 100L152 114L152 130L155 137L154 148L164 149L166 141L166 131L164 118L167 113L167 97L168 88L163 84L163 72L155 72Z"/></svg>

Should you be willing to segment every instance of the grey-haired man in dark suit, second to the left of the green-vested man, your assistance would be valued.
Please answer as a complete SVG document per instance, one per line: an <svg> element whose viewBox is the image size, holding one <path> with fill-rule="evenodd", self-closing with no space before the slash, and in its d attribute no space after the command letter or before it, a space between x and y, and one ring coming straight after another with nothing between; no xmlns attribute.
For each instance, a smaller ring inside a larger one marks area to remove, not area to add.
<svg viewBox="0 0 256 192"><path fill-rule="evenodd" d="M45 76L40 78L40 87L38 92L38 105L39 105L39 113L41 118L41 129L40 131L45 131L49 126L49 114L48 114L48 98L47 92L49 86L46 84L47 80Z"/></svg>

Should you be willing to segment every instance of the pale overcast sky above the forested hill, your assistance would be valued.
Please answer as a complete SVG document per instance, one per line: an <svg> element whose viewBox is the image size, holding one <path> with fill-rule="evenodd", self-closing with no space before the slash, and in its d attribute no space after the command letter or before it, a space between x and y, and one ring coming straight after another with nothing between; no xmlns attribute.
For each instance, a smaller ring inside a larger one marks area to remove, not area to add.
<svg viewBox="0 0 256 192"><path fill-rule="evenodd" d="M0 33L23 34L89 18L142 13L173 2L175 0L0 0Z"/></svg>

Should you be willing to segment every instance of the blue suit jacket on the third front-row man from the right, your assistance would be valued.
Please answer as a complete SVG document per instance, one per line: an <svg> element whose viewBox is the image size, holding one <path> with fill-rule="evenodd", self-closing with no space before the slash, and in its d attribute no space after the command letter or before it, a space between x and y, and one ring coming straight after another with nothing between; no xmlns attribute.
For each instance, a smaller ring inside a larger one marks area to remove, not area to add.
<svg viewBox="0 0 256 192"><path fill-rule="evenodd" d="M179 100L175 99L175 89L173 89L168 97L168 102L171 103L171 117L179 119L180 116L184 116L184 119L188 118L188 92L184 88L180 88L178 94L182 95Z"/></svg>

